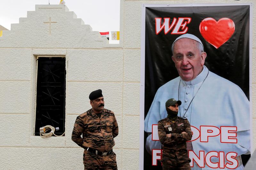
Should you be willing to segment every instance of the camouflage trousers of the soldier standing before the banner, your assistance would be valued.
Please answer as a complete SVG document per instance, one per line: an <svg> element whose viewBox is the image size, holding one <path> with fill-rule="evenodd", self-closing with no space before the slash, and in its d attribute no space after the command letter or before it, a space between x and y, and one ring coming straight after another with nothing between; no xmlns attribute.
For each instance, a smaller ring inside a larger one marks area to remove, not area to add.
<svg viewBox="0 0 256 170"><path fill-rule="evenodd" d="M176 155L177 152L163 152L162 153L162 165L163 170L191 170L188 158L188 152L185 149L179 151L179 158Z"/></svg>

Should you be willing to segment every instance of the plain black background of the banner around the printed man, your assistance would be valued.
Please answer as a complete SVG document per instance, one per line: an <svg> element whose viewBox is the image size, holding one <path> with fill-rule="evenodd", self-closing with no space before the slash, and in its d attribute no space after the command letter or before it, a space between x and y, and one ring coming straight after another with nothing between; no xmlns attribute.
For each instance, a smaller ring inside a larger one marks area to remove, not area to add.
<svg viewBox="0 0 256 170"><path fill-rule="evenodd" d="M145 105L144 118L154 99L157 89L178 77L172 61L171 46L180 34L156 35L155 18L190 17L188 32L196 35L204 45L207 57L204 65L213 73L238 85L249 99L249 28L250 6L192 6L192 7L146 7L145 22ZM199 25L204 18L230 18L235 23L235 32L218 49L204 40ZM163 24L164 19L162 19ZM147 134L144 133L144 144ZM144 147L144 169L159 169L151 166L151 155Z"/></svg>

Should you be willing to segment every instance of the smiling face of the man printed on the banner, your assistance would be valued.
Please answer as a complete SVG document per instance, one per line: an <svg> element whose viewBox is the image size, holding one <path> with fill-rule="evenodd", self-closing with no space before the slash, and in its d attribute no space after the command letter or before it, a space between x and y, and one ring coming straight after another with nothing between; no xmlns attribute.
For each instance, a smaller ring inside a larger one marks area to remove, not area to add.
<svg viewBox="0 0 256 170"><path fill-rule="evenodd" d="M177 40L172 54L172 61L182 80L191 81L203 70L206 53L200 52L197 41L189 38Z"/></svg>

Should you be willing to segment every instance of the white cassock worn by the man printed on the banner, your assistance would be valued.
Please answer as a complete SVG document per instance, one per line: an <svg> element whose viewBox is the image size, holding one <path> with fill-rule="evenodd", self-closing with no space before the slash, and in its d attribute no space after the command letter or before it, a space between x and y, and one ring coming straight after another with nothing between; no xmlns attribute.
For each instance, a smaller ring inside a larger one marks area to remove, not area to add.
<svg viewBox="0 0 256 170"><path fill-rule="evenodd" d="M197 92L200 86L201 88ZM194 96L194 100L188 107ZM181 100L178 116L181 114L183 117L188 110L184 117L188 119L191 126L197 129L200 129L200 126L237 127L237 143L220 143L220 135L209 137L208 142L200 142L200 138L193 141L193 151L197 156L199 151L205 151L205 154L211 151L222 151L225 154L236 152L237 155L250 152L249 101L236 84L212 73L205 66L203 71L192 81L186 82L177 77L167 82L157 90L145 118L144 130L146 132L152 132L152 124L157 124L159 120L167 117L165 102L170 98ZM159 141L152 141L150 135L147 138L146 148L150 151L160 149L161 144Z"/></svg>

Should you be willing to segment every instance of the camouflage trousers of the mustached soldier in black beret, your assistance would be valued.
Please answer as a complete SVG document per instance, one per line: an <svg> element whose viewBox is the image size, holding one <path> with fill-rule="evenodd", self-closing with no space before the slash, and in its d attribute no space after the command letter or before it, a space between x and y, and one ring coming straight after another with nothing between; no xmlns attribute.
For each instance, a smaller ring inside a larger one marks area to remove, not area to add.
<svg viewBox="0 0 256 170"><path fill-rule="evenodd" d="M116 154L100 156L84 150L84 170L117 170Z"/></svg>

